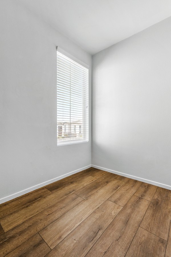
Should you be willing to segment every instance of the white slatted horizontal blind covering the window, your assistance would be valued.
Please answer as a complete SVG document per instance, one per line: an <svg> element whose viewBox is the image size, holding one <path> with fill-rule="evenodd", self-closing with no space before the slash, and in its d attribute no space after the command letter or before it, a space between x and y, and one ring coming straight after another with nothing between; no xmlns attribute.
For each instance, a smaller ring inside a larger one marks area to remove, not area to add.
<svg viewBox="0 0 171 257"><path fill-rule="evenodd" d="M57 145L89 139L88 69L57 50Z"/></svg>

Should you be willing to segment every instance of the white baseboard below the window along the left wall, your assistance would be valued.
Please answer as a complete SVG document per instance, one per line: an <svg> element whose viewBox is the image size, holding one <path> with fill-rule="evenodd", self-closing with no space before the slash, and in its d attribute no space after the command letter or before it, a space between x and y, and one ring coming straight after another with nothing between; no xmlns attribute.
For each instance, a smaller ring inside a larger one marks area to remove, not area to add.
<svg viewBox="0 0 171 257"><path fill-rule="evenodd" d="M88 168L91 168L91 164L88 165L88 166L86 166L86 167L83 167L83 168L80 168L80 169L76 169L75 171L71 171L71 172L66 173L66 174L64 174L64 175L61 175L61 176L59 176L59 177L56 177L56 178L54 178L54 179L50 179L50 180L48 180L48 181L45 181L45 182L40 183L40 184L38 184L38 185L35 185L35 186L33 186L33 187L29 187L29 188L27 188L27 189L24 189L24 190L22 190L22 191L19 191L19 192L17 192L17 193L12 194L12 195L8 195L8 196L6 196L6 197L3 197L3 198L0 199L0 204L1 204L1 203L5 203L5 202L7 202L7 201L9 201L9 200L15 199L15 198L17 198L17 197L19 197L19 196L25 195L25 194L27 194L27 193L29 193L29 192L31 192L31 191L34 191L34 190L36 190L36 189L39 189L40 187L47 186L47 185L49 185L49 184L51 184L51 183L53 183L53 182L56 182L56 181L58 181L58 180L60 180L60 179L63 179L63 178L65 178L65 177L68 177L68 176L70 176L70 175L72 175L72 174L75 174L75 173L77 173L77 172L83 171L84 169L88 169Z"/></svg>

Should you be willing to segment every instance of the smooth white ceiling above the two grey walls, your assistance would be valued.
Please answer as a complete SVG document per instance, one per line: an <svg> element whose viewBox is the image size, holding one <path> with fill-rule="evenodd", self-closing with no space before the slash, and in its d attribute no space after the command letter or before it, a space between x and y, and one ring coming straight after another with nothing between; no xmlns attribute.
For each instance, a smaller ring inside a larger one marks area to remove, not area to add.
<svg viewBox="0 0 171 257"><path fill-rule="evenodd" d="M90 54L171 16L170 0L20 0Z"/></svg>

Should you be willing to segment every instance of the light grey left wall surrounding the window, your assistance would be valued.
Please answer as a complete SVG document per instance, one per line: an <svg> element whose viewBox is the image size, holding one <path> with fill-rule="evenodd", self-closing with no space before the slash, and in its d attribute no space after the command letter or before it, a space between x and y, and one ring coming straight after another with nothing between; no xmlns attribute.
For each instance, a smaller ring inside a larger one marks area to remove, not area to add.
<svg viewBox="0 0 171 257"><path fill-rule="evenodd" d="M0 37L3 198L91 165L91 56L17 0L0 1ZM88 143L56 145L57 45L90 66Z"/></svg>

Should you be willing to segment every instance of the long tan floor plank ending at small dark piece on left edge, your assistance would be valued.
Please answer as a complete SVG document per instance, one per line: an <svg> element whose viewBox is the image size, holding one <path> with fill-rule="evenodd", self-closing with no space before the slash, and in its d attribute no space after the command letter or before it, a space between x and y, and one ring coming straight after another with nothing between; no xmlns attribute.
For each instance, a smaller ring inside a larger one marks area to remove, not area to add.
<svg viewBox="0 0 171 257"><path fill-rule="evenodd" d="M83 187L92 181L96 180L96 178L87 176L82 179L79 183L73 183L68 187L62 188L50 195L39 199L38 201L31 203L28 206L25 206L19 211L11 213L3 218L0 219L1 226L3 227L4 231L8 231L11 228L19 225L20 223L24 222L25 220L31 218L32 216L40 213L44 209L48 208L50 205L60 201L61 198L71 194L72 192L76 191L80 187Z"/></svg>

